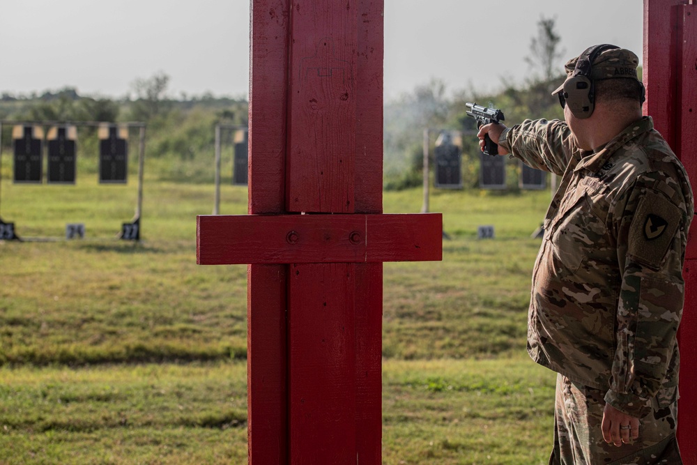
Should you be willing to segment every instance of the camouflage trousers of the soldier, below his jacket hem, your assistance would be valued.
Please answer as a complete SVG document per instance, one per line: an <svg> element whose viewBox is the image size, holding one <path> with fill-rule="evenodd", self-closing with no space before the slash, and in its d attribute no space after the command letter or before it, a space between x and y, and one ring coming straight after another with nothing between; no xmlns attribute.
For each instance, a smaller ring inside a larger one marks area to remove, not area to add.
<svg viewBox="0 0 697 465"><path fill-rule="evenodd" d="M677 390L672 399L655 400L641 418L639 437L617 447L603 439L605 392L557 376L554 448L549 465L681 465L675 440Z"/></svg>

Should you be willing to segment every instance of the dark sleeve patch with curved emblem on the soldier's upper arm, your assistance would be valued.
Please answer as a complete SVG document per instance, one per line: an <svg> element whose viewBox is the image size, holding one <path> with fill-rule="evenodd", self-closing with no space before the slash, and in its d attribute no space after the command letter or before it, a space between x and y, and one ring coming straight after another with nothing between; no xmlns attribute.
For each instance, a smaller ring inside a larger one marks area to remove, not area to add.
<svg viewBox="0 0 697 465"><path fill-rule="evenodd" d="M660 268L675 232L680 228L681 218L680 208L668 199L647 193L634 212L627 254L650 268Z"/></svg>

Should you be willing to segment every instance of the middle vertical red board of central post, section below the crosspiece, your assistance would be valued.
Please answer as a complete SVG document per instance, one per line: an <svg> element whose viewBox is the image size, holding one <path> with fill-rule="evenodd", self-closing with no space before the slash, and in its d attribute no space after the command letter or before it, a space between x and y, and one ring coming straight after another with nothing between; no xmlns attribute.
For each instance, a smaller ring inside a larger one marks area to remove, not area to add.
<svg viewBox="0 0 697 465"><path fill-rule="evenodd" d="M356 463L354 269L289 268L291 464Z"/></svg>

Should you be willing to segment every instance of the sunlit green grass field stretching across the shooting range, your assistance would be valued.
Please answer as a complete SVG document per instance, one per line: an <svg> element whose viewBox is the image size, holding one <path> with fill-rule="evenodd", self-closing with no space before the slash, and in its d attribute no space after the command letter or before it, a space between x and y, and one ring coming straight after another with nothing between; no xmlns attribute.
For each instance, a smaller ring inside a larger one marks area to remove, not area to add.
<svg viewBox="0 0 697 465"><path fill-rule="evenodd" d="M126 186L13 185L0 214L0 464L246 463L246 267L197 266L213 186L148 180L140 244ZM421 190L385 192L386 213ZM443 261L385 264L384 464L546 464L554 374L526 356L549 192L431 191ZM247 190L222 188L221 213ZM477 240L491 224L496 238Z"/></svg>

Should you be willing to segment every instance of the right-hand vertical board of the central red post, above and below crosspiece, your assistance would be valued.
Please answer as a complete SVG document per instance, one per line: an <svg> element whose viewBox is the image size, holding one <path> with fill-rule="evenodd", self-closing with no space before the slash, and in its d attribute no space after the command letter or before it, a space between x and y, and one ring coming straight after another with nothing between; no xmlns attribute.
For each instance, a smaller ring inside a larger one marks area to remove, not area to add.
<svg viewBox="0 0 697 465"><path fill-rule="evenodd" d="M361 0L356 66L355 210L383 211L383 0ZM383 265L355 266L358 465L382 462Z"/></svg>

